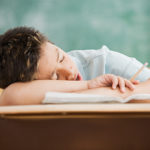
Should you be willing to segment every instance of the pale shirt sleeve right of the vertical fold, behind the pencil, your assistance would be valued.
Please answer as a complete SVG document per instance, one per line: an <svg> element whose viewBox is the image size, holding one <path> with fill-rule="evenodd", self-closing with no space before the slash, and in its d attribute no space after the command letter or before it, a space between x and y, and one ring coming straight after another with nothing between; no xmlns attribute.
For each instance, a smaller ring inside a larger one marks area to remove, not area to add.
<svg viewBox="0 0 150 150"><path fill-rule="evenodd" d="M106 46L103 46L106 50L106 72L115 74L126 79L130 79L143 64L133 57L128 57L124 54L109 50ZM145 67L143 71L136 77L136 80L146 81L150 78L150 69Z"/></svg>

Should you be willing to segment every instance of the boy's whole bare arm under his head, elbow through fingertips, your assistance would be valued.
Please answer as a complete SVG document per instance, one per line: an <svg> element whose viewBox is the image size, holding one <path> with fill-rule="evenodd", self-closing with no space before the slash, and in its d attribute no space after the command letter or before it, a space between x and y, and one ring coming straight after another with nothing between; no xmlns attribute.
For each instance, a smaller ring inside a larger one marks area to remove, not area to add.
<svg viewBox="0 0 150 150"><path fill-rule="evenodd" d="M130 81L112 74L98 76L88 81L34 80L8 86L0 97L0 105L40 104L45 93L49 91L77 92L105 86L112 86L113 89L119 86L121 92L124 92L125 87L133 90Z"/></svg>

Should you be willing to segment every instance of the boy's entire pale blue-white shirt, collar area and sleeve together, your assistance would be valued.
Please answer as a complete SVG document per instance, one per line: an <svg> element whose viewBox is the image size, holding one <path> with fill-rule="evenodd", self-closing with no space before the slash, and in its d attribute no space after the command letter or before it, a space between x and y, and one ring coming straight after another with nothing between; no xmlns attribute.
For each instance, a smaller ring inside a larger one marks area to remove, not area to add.
<svg viewBox="0 0 150 150"><path fill-rule="evenodd" d="M98 50L73 50L68 52L77 65L84 80L90 80L103 74L115 74L130 79L143 65L133 57L109 50L103 46ZM147 67L137 76L137 80L150 78Z"/></svg>

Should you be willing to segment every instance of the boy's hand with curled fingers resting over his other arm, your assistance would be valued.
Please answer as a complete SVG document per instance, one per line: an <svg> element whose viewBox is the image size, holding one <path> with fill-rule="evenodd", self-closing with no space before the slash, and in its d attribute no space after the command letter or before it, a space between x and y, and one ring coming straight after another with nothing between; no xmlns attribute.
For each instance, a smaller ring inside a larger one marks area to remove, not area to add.
<svg viewBox="0 0 150 150"><path fill-rule="evenodd" d="M130 80L124 79L120 76L115 76L113 74L105 74L99 77L96 77L92 80L88 81L88 88L98 88L98 87L106 87L112 86L112 89L116 89L119 86L121 92L125 92L125 87L128 87L130 90L134 90L133 84L138 84L139 81L134 80L131 82Z"/></svg>

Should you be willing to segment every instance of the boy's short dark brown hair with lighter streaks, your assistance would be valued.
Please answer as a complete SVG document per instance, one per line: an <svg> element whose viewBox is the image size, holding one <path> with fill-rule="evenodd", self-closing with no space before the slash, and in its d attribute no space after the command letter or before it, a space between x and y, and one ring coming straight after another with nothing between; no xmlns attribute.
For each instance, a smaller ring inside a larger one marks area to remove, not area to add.
<svg viewBox="0 0 150 150"><path fill-rule="evenodd" d="M46 41L30 27L16 27L0 35L0 88L34 79L41 45Z"/></svg>

